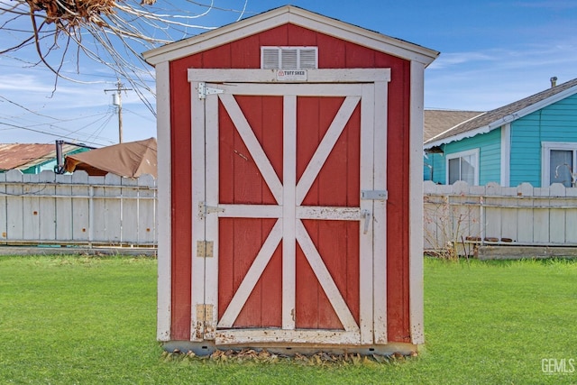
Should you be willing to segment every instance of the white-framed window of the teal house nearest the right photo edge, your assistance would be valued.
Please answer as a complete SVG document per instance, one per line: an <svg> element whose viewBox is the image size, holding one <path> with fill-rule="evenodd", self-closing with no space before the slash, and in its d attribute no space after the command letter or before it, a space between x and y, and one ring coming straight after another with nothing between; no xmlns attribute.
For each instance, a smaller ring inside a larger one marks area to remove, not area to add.
<svg viewBox="0 0 577 385"><path fill-rule="evenodd" d="M576 185L577 142L543 142L543 186L561 183L566 188Z"/></svg>

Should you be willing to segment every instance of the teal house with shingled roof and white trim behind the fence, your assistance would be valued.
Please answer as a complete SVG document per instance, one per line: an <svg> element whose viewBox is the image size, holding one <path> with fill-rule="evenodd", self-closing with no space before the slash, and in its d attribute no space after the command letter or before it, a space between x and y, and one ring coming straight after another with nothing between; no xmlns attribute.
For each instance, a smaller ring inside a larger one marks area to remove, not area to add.
<svg viewBox="0 0 577 385"><path fill-rule="evenodd" d="M424 179L533 187L577 179L577 78L489 112L424 142Z"/></svg>

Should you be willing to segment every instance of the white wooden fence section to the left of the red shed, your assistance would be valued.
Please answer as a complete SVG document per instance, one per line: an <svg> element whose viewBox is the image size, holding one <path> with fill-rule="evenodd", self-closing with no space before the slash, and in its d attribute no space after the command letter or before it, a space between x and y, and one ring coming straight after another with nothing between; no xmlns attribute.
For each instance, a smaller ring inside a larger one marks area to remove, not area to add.
<svg viewBox="0 0 577 385"><path fill-rule="evenodd" d="M156 245L156 181L0 173L0 244Z"/></svg>

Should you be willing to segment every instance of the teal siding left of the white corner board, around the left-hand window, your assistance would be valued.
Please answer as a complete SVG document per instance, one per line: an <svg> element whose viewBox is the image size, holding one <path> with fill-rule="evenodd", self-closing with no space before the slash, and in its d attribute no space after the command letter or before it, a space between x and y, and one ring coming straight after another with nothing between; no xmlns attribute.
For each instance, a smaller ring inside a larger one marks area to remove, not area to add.
<svg viewBox="0 0 577 385"><path fill-rule="evenodd" d="M425 167L424 175L429 177L426 180L433 180L435 183L446 184L446 156L456 152L479 149L479 184L485 185L489 182L499 182L500 180L500 151L501 151L501 129L493 130L490 133L482 133L472 138L465 138L459 142L444 144L444 154L428 154L425 163L433 169L433 179L430 179L430 167Z"/></svg>

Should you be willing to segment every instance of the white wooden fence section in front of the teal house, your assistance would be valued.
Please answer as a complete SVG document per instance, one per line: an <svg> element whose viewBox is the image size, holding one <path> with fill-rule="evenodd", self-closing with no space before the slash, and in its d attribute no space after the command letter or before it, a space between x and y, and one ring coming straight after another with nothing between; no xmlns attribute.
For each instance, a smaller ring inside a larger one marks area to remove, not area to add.
<svg viewBox="0 0 577 385"><path fill-rule="evenodd" d="M577 188L426 181L424 204L426 250L455 243L577 246Z"/></svg>

